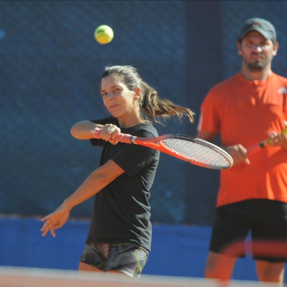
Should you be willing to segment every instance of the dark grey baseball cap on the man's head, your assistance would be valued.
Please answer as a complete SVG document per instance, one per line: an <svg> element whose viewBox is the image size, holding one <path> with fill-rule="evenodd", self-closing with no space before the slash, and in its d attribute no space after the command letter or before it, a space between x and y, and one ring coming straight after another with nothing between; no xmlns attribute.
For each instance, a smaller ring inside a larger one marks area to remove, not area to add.
<svg viewBox="0 0 287 287"><path fill-rule="evenodd" d="M258 31L268 40L276 41L275 27L267 20L261 18L250 18L244 22L244 26L241 30L239 41L249 33L250 31Z"/></svg>

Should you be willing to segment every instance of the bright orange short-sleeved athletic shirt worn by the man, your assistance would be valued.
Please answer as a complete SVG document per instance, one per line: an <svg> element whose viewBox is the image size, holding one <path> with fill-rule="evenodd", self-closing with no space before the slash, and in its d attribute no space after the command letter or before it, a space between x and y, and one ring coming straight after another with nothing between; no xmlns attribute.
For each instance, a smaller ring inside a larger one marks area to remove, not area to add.
<svg viewBox="0 0 287 287"><path fill-rule="evenodd" d="M219 83L201 106L198 130L221 134L222 145L248 147L279 133L287 119L287 79L272 73L249 81L241 73ZM287 149L266 146L241 163L221 171L217 206L246 199L287 202Z"/></svg>

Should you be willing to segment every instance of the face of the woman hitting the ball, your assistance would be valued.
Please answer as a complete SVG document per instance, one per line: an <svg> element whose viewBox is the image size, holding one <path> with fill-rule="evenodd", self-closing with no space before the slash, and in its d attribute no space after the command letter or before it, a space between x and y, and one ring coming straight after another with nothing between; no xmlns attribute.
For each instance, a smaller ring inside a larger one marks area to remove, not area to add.
<svg viewBox="0 0 287 287"><path fill-rule="evenodd" d="M120 77L109 75L102 79L101 95L110 114L115 118L128 118L138 109L138 97L135 91L130 91Z"/></svg>

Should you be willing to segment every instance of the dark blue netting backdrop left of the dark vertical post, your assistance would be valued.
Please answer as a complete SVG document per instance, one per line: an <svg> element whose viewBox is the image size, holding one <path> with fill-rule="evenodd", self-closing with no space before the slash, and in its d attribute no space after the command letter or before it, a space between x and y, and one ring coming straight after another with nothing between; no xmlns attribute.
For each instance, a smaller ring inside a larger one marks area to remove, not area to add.
<svg viewBox="0 0 287 287"><path fill-rule="evenodd" d="M184 7L183 1L0 1L0 213L51 212L98 166L101 148L69 132L78 121L108 116L98 93L105 65L133 65L160 97L187 105L179 85L186 81ZM114 29L108 45L94 39L101 24ZM171 121L158 129L186 133L185 126ZM153 209L156 221L183 220L185 165L161 157L151 190L152 205L160 206ZM89 200L72 215L89 217L91 209Z"/></svg>

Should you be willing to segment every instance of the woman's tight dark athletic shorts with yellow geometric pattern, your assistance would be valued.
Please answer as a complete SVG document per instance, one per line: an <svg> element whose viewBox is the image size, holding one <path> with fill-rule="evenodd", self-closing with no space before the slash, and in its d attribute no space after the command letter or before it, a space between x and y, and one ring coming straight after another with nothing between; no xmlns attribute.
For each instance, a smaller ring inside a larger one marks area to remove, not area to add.
<svg viewBox="0 0 287 287"><path fill-rule="evenodd" d="M133 278L140 278L149 252L131 243L87 242L80 262L105 272L120 271Z"/></svg>

